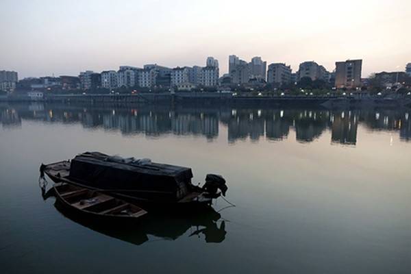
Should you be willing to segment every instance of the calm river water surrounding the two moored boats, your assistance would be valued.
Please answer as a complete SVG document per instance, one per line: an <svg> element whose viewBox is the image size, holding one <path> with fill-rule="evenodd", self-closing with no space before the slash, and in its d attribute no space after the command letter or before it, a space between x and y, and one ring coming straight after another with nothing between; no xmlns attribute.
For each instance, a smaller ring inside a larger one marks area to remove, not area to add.
<svg viewBox="0 0 411 274"><path fill-rule="evenodd" d="M411 273L411 110L0 113L1 273ZM43 201L38 167L83 151L190 166L193 182L219 173L236 207L140 227L71 220Z"/></svg>

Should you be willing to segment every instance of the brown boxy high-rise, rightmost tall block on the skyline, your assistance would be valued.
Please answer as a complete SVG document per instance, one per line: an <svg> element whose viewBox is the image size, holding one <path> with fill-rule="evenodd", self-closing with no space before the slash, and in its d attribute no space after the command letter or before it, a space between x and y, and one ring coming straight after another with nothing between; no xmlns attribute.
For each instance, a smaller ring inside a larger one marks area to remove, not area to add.
<svg viewBox="0 0 411 274"><path fill-rule="evenodd" d="M359 88L361 86L362 60L336 62L336 88Z"/></svg>

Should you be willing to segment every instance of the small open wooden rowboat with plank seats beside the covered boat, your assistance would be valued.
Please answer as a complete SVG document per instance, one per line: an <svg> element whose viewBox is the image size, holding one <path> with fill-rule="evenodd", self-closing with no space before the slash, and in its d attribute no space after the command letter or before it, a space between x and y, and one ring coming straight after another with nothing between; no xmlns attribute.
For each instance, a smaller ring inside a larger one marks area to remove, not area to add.
<svg viewBox="0 0 411 274"><path fill-rule="evenodd" d="M97 219L139 219L147 214L138 206L101 192L67 183L53 186L55 198L64 208Z"/></svg>

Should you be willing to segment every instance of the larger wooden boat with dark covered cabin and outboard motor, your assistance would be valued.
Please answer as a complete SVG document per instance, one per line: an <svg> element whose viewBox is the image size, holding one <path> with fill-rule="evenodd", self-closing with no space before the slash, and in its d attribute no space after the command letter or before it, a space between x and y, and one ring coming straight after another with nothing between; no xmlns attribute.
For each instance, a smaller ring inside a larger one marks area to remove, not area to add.
<svg viewBox="0 0 411 274"><path fill-rule="evenodd" d="M134 159L134 158L133 158ZM103 153L82 153L73 160L55 162L40 167L53 182L64 182L96 190L144 208L195 209L209 206L212 199L225 194L227 186L219 175L208 175L202 188L191 183L191 169L169 164L124 158ZM212 178L212 179L209 179ZM217 190L222 190L218 192Z"/></svg>

